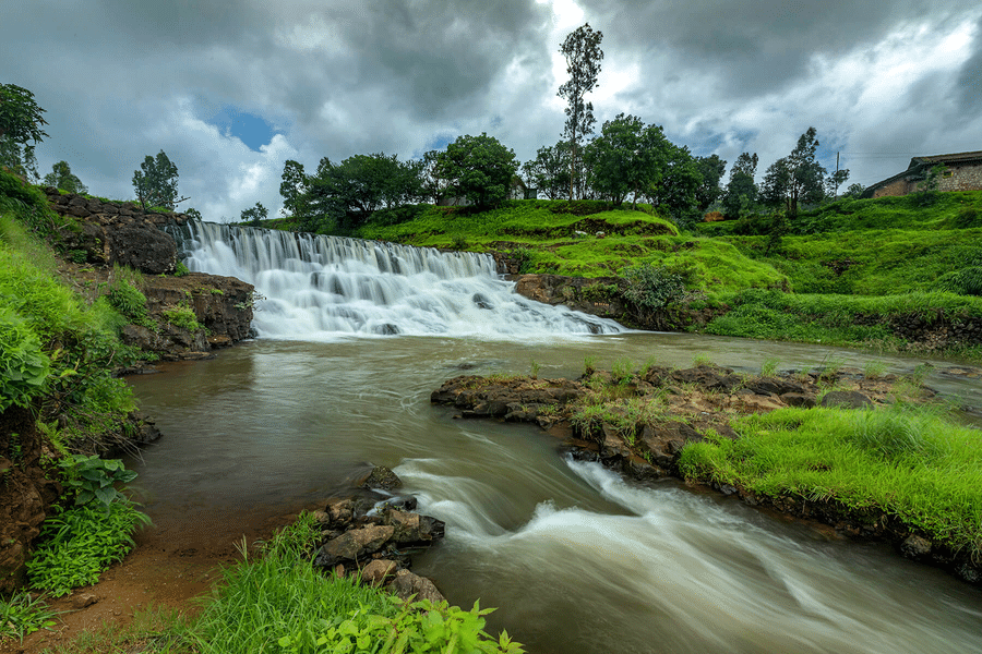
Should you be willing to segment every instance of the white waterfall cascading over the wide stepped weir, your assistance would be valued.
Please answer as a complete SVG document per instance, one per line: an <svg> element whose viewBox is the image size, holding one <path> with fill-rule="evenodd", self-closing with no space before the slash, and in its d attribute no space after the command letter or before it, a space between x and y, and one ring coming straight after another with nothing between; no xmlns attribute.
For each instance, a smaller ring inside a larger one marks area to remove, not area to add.
<svg viewBox="0 0 982 654"><path fill-rule="evenodd" d="M486 254L201 221L171 234L190 270L237 277L263 295L253 319L261 337L535 338L624 330L517 295Z"/></svg>

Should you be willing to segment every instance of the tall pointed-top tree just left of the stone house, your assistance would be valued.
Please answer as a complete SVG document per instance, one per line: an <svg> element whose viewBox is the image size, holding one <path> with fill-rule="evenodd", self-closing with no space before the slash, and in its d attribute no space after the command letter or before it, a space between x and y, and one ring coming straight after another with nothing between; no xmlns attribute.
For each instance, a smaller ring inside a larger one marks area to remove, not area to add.
<svg viewBox="0 0 982 654"><path fill-rule="evenodd" d="M764 201L783 204L789 220L798 217L799 204L819 203L825 197L825 168L815 158L817 150L815 128L809 128L791 154L771 164L764 174Z"/></svg>

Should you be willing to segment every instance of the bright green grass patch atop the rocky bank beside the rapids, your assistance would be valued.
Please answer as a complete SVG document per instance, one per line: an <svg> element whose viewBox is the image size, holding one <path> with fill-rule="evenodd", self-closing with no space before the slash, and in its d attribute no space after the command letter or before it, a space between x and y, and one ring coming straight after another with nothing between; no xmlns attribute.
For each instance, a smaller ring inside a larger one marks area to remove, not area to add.
<svg viewBox="0 0 982 654"><path fill-rule="evenodd" d="M927 410L782 409L734 423L736 440L683 450L688 479L766 496L884 511L954 549L982 556L982 440Z"/></svg>

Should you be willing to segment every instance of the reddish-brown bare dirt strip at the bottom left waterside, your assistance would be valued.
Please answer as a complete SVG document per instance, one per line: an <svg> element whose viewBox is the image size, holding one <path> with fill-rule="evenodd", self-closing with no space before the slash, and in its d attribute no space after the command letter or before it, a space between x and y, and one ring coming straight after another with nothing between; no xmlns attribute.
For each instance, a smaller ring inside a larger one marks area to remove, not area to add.
<svg viewBox="0 0 982 654"><path fill-rule="evenodd" d="M50 603L58 616L53 631L38 631L24 639L0 642L0 654L35 654L53 651L86 631L105 625L124 627L133 614L149 607L177 609L187 615L200 610L199 598L209 595L221 579L221 568L241 560L242 540L250 546L289 523L296 513L242 520L200 520L182 523L175 516L152 516L156 524L136 535L136 547L107 570L99 582L75 589ZM80 608L81 604L94 602Z"/></svg>

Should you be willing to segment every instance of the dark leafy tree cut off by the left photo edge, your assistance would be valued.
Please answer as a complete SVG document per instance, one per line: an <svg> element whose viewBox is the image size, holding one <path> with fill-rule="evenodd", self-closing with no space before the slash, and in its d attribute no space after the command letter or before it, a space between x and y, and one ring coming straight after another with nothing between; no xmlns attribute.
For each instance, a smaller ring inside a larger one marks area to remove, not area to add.
<svg viewBox="0 0 982 654"><path fill-rule="evenodd" d="M0 165L22 177L37 179L34 147L48 136L41 130L48 124L44 112L26 88L0 84Z"/></svg>

